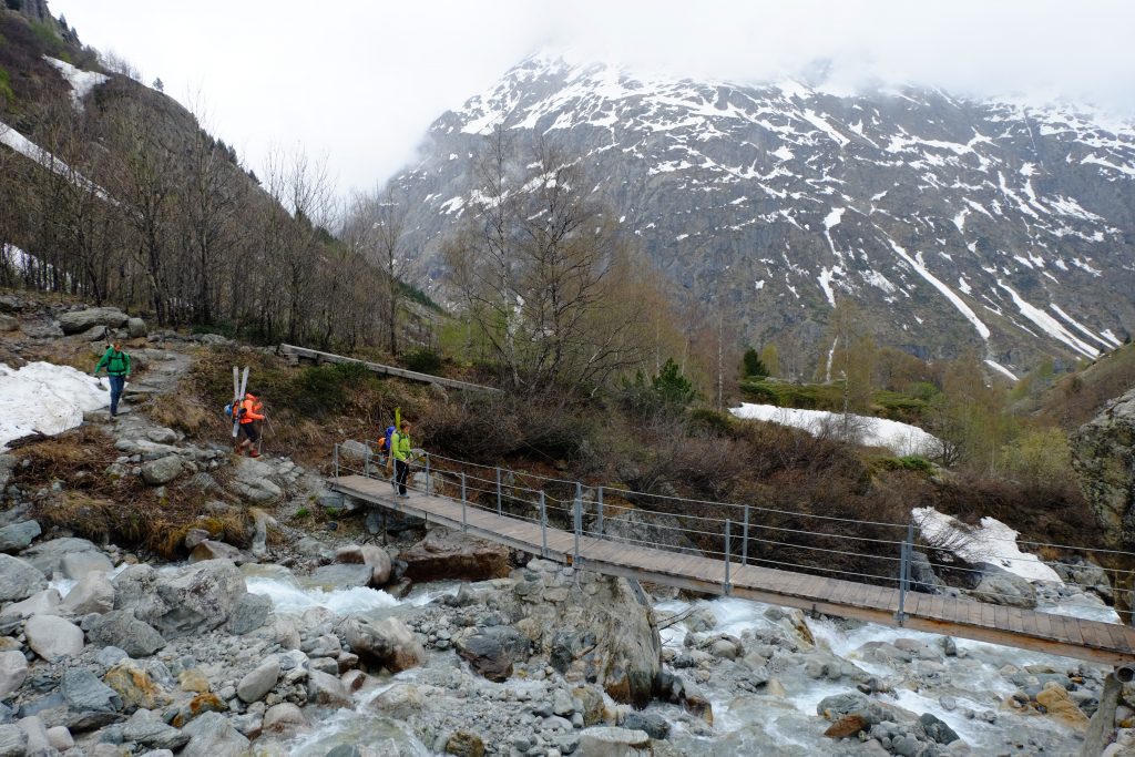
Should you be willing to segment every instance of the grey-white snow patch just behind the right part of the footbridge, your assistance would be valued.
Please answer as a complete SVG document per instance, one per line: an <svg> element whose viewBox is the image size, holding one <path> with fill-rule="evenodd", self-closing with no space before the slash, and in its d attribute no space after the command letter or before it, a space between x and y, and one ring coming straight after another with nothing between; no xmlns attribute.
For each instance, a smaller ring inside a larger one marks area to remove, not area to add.
<svg viewBox="0 0 1135 757"><path fill-rule="evenodd" d="M1040 557L1023 553L1017 547L1017 531L995 518L983 518L974 528L933 507L915 507L910 514L926 541L966 562L990 563L1029 581L1063 583Z"/></svg>

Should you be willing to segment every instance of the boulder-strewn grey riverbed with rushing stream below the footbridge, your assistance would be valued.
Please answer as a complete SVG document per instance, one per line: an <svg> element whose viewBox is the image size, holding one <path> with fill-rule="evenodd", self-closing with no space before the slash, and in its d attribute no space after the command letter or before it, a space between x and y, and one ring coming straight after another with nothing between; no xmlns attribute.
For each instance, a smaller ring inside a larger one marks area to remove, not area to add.
<svg viewBox="0 0 1135 757"><path fill-rule="evenodd" d="M34 312L33 339L101 326ZM127 406L188 365L193 343L167 336L138 351ZM250 531L227 544L202 522L165 563L45 530L33 505L68 482L23 490L19 452L0 455L0 757L1071 755L1101 703L1105 754L1135 754L1135 688L1099 666L639 587L359 510L291 460L140 413L86 420L116 439L106 476L155 502L199 487ZM300 507L344 528L287 525ZM1110 613L1105 575L1077 581L1103 581L1088 594L998 580L995 596Z"/></svg>

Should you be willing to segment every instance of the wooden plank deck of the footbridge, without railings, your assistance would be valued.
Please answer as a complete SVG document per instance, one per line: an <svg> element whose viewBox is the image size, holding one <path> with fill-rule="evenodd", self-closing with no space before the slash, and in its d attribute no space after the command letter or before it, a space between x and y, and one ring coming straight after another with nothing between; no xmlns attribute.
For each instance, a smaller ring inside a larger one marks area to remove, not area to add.
<svg viewBox="0 0 1135 757"><path fill-rule="evenodd" d="M548 527L541 535L539 519L497 515L472 505L411 491L395 497L389 481L340 476L333 488L388 510L423 518L472 536L522 552L572 564L575 535ZM545 539L547 550L545 552ZM734 558L739 560L739 558ZM676 586L705 594L725 594L722 560L682 552L664 552L594 536L579 537L578 567ZM773 605L849 617L883 625L899 625L899 590L775 567L730 565L729 594ZM1017 607L991 605L943 595L908 591L903 628L956 636L1009 647L1044 651L1105 665L1135 662L1135 629Z"/></svg>

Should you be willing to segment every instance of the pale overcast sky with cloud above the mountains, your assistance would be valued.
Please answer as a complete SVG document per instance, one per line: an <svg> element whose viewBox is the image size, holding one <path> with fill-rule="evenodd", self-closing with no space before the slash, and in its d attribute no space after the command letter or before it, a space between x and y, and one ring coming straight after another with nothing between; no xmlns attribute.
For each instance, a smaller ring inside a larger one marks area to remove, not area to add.
<svg viewBox="0 0 1135 757"><path fill-rule="evenodd" d="M326 159L342 193L411 162L429 124L543 47L760 82L832 62L840 89L1092 102L1135 118L1135 0L49 0L160 77L254 169Z"/></svg>

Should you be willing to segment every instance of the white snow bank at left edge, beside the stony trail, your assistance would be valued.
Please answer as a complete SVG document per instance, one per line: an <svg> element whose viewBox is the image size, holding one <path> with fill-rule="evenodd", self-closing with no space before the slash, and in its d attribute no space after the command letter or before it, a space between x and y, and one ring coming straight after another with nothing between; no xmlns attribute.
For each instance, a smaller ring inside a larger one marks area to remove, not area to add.
<svg viewBox="0 0 1135 757"><path fill-rule="evenodd" d="M110 394L70 365L28 363L18 371L0 363L0 451L22 436L60 434L83 413L106 407Z"/></svg>

